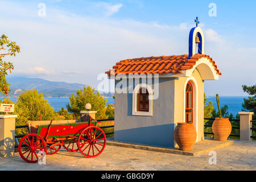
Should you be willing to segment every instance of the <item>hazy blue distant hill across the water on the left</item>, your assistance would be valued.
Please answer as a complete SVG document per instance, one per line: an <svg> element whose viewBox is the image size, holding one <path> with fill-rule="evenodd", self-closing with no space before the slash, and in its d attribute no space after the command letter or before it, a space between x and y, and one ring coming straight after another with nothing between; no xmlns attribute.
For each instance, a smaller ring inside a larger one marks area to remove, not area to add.
<svg viewBox="0 0 256 182"><path fill-rule="evenodd" d="M83 89L85 84L48 81L42 78L7 77L10 85L11 97L18 97L24 90L37 89L44 97L69 97L75 94L77 89ZM102 93L102 96L111 97L114 94Z"/></svg>

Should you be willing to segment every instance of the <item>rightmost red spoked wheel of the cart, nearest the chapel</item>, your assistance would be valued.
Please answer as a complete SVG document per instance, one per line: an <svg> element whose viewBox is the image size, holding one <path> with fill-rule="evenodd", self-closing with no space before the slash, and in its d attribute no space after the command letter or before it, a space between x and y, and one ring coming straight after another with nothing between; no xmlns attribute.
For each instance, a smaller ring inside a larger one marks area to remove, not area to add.
<svg viewBox="0 0 256 182"><path fill-rule="evenodd" d="M89 126L79 136L79 151L86 158L94 158L102 153L106 146L106 135L100 127Z"/></svg>

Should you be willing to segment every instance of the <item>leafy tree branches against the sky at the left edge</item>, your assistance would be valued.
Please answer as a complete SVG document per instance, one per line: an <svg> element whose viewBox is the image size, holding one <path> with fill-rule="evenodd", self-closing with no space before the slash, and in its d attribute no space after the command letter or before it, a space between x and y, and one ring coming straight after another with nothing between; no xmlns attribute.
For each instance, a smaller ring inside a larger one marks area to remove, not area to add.
<svg viewBox="0 0 256 182"><path fill-rule="evenodd" d="M2 94L9 94L9 85L6 81L8 72L13 70L13 63L3 60L5 56L16 56L16 53L20 52L20 47L15 42L8 40L8 37L2 35L0 37L0 51L6 50L6 52L0 53L0 92Z"/></svg>

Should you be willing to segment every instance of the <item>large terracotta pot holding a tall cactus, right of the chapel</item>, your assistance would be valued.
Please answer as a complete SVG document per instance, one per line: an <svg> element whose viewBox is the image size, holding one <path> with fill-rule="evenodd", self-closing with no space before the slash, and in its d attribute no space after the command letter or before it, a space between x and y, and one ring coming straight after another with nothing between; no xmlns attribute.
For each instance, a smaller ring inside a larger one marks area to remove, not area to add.
<svg viewBox="0 0 256 182"><path fill-rule="evenodd" d="M212 131L219 141L226 141L232 130L229 118L215 118Z"/></svg>

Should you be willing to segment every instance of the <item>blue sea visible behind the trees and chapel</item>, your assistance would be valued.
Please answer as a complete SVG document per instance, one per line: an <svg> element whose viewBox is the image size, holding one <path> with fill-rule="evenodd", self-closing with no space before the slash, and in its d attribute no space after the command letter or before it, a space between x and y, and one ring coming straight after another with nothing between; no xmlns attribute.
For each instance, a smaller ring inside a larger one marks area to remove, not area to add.
<svg viewBox="0 0 256 182"><path fill-rule="evenodd" d="M245 96L220 96L220 106L228 105L228 111L229 113L232 113L233 115L236 115L238 112L242 111L242 103L243 98L247 98ZM12 98L14 102L16 102L16 98ZM64 107L64 109L67 109L66 105L70 104L69 98L46 98L49 102L49 104L53 107L55 111L59 111L61 107ZM112 97L106 97L108 104L114 104L114 98ZM218 110L217 107L217 101L216 96L208 96L207 97L207 104L208 102L212 101L213 107Z"/></svg>

